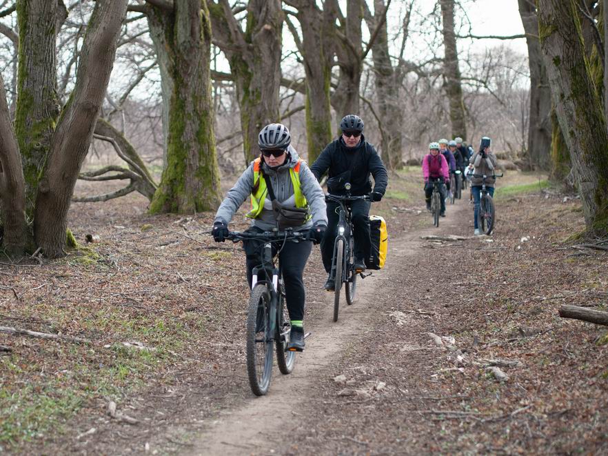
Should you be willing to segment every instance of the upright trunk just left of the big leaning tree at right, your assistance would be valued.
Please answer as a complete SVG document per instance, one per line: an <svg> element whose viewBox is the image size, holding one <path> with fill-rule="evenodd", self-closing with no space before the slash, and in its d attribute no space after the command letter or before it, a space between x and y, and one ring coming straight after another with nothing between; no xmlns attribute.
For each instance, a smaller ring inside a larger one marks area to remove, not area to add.
<svg viewBox="0 0 608 456"><path fill-rule="evenodd" d="M525 161L531 169L546 171L551 164L551 89L543 54L540 52L536 7L528 0L518 2L519 14L526 32L530 68L530 113Z"/></svg>

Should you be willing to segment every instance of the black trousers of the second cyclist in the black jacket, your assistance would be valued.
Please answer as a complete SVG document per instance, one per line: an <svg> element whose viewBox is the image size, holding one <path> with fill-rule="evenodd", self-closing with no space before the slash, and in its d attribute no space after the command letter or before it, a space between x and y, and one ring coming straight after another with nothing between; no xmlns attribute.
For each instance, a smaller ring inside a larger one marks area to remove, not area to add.
<svg viewBox="0 0 608 456"><path fill-rule="evenodd" d="M363 199L350 201L352 209L352 224L354 226L354 256L356 258L368 258L372 241L369 240L369 208L372 204ZM334 241L338 235L338 208L340 205L334 201L327 202L327 230L321 241L321 256L325 272L332 270L332 257L334 256Z"/></svg>

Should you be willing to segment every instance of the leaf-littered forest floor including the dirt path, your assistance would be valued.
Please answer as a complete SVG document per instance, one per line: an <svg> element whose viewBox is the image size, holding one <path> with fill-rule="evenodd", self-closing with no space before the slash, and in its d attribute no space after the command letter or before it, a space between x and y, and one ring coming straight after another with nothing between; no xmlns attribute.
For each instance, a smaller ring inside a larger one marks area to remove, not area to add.
<svg viewBox="0 0 608 456"><path fill-rule="evenodd" d="M337 323L314 249L312 335L261 398L245 372L243 254L207 235L212 214L152 217L136 195L73 204L74 235L99 240L3 261L0 326L88 342L0 333L0 453L606 453L606 330L558 317L608 299L608 253L569 240L580 201L511 172L494 234L472 237L468 199L433 228L421 194L412 168L374 204L387 264Z"/></svg>

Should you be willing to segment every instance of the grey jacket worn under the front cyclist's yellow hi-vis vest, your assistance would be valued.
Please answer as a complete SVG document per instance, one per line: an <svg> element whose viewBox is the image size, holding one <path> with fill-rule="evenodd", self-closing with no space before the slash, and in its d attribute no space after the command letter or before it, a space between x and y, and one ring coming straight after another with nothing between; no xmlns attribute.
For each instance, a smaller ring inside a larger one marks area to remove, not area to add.
<svg viewBox="0 0 608 456"><path fill-rule="evenodd" d="M274 195L280 203L285 206L295 207L295 196L294 186L290 177L290 168L294 168L298 163L298 152L292 146L287 149L289 157L287 163L283 164L276 170L271 170L263 163L263 171L270 177L270 184ZM236 210L241 207L241 204L245 199L249 199L254 184L254 172L253 172L253 161L250 166L243 172L239 180L236 181L234 187L228 190L225 199L222 201L221 206L216 212L214 221L221 221L225 224L229 224L230 220L234 216ZM314 175L305 161L300 165L300 187L302 193L306 198L308 205L310 206L310 212L312 219L307 221L301 228L297 230L304 230L312 227L313 225L325 225L327 226L327 214L325 206L325 195L321 186L318 185ZM274 212L272 212L272 202L270 196L266 196L264 201L264 208L260 213L259 217L253 219L252 225L261 228L262 230L272 230L276 227L276 219Z"/></svg>

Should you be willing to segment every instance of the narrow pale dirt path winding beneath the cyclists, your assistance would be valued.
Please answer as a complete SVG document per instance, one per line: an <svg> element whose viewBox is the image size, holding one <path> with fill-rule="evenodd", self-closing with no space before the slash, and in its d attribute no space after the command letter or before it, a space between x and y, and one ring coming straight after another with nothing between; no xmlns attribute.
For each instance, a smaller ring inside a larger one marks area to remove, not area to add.
<svg viewBox="0 0 608 456"><path fill-rule="evenodd" d="M413 230L401 239L392 235L389 241L389 255L384 270L374 272L374 276L361 281L358 296L353 306L346 306L341 297L340 319L332 321L334 295L325 295L325 309L321 320L312 328L312 336L307 339L305 353L299 355L296 368L291 375L282 376L275 368L270 393L265 397L252 397L240 408L225 410L223 418L207 423L209 430L193 443L191 455L242 455L281 453L276 436L290 435L296 427L292 420L298 417L298 408L313 399L315 385L321 381L321 373L327 367L336 364L343 350L352 343L353 338L361 338L369 331L378 328L367 328L374 317L376 306L394 297L383 293L382 286L386 281L403 279L402 267L410 259L422 254L420 236L452 232L458 224L463 224L463 217L469 215L467 201L460 201L449 206L447 217L440 220L439 228L432 226L432 219L425 214L428 228ZM412 217L406 215L405 217ZM390 229L390 227L389 227ZM372 304L374 303L374 304Z"/></svg>

